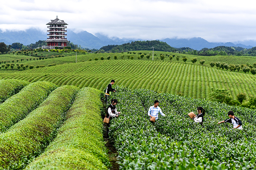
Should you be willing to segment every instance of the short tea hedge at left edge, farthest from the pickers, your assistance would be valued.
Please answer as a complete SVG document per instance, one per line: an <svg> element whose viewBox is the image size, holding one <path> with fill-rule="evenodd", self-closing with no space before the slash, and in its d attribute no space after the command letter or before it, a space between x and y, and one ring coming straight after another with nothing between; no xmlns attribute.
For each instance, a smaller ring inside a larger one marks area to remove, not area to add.
<svg viewBox="0 0 256 170"><path fill-rule="evenodd" d="M29 82L17 79L1 79L0 80L0 103L9 97L17 94Z"/></svg>

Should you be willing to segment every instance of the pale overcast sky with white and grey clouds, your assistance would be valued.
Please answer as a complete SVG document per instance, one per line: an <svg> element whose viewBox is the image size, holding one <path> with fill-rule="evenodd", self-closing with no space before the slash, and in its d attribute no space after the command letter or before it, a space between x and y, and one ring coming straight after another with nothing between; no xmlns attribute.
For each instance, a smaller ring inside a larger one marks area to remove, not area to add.
<svg viewBox="0 0 256 170"><path fill-rule="evenodd" d="M47 31L50 20L108 37L256 40L252 0L1 0L0 29Z"/></svg>

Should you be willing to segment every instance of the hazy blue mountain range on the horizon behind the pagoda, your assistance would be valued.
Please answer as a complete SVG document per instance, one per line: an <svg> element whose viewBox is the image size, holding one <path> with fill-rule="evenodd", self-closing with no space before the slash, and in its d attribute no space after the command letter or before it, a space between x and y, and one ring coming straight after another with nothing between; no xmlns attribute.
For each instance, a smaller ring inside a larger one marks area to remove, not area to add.
<svg viewBox="0 0 256 170"><path fill-rule="evenodd" d="M47 40L47 32L42 32L35 28L27 29L26 31L1 31L0 30L0 42L5 42L8 45L11 45L14 42L20 42L23 45L28 45L31 43L35 43L38 40ZM67 40L73 42L74 44L81 45L83 48L89 49L99 49L105 45L121 45L124 43L138 41L140 39L120 39L118 37L109 38L102 34L93 35L87 31L81 31L79 33L75 33L71 30L67 30ZM166 42L172 47L181 48L181 47L189 47L195 50L201 50L202 48L214 48L217 46L234 46L234 47L242 47L242 48L252 48L256 46L256 41L248 40L248 41L239 41L236 44L232 42L208 42L200 37L194 37L190 39L163 39L160 40Z"/></svg>

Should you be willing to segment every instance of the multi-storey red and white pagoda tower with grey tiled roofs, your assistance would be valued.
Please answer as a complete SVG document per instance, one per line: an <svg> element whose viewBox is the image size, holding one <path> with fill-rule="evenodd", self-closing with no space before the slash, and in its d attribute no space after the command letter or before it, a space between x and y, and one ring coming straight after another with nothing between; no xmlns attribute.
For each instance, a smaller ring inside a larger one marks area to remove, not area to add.
<svg viewBox="0 0 256 170"><path fill-rule="evenodd" d="M63 49L64 47L67 46L67 30L65 30L67 23L64 22L64 20L59 20L58 16L56 17L55 20L51 20L51 22L47 23L46 25L49 30L47 32L47 48L48 49L54 49L55 47L58 47L59 49Z"/></svg>

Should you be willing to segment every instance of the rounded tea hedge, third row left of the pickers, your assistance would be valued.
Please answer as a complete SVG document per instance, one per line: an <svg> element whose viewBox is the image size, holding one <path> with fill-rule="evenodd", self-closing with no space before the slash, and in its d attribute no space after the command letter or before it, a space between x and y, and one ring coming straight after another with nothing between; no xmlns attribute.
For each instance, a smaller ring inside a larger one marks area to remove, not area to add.
<svg viewBox="0 0 256 170"><path fill-rule="evenodd" d="M25 118L58 86L51 82L34 82L0 105L0 132Z"/></svg>

